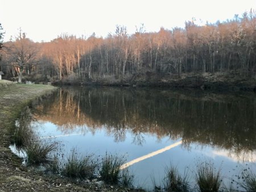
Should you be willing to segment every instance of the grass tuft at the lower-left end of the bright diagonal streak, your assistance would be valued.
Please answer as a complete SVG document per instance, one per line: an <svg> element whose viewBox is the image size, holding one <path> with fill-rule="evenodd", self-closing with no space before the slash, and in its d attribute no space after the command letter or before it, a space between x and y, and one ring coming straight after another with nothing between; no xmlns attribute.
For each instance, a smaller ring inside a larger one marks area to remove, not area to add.
<svg viewBox="0 0 256 192"><path fill-rule="evenodd" d="M120 168L124 162L125 158L106 153L101 162L101 180L105 181L106 183L117 184L120 179Z"/></svg>

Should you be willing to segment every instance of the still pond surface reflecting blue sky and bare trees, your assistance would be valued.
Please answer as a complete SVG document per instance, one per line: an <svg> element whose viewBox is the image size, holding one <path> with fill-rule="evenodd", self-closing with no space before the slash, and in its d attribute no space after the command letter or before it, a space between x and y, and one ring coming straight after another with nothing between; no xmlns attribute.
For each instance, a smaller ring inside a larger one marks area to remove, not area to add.
<svg viewBox="0 0 256 192"><path fill-rule="evenodd" d="M212 161L228 183L255 170L255 93L208 93L118 87L62 87L36 106L34 132L59 141L61 153L125 155L134 185L161 185L166 166Z"/></svg>

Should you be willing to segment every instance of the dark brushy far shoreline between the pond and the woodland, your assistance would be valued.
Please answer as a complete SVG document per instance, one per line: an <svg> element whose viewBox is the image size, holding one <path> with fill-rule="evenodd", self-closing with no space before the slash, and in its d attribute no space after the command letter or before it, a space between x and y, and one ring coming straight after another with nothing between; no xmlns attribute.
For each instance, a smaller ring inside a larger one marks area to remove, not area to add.
<svg viewBox="0 0 256 192"><path fill-rule="evenodd" d="M245 77L234 74L183 74L181 77L135 76L130 78L93 78L91 80L54 81L53 85L81 85L81 86L127 86L127 87L168 87L192 88L217 91L255 91L256 77Z"/></svg>

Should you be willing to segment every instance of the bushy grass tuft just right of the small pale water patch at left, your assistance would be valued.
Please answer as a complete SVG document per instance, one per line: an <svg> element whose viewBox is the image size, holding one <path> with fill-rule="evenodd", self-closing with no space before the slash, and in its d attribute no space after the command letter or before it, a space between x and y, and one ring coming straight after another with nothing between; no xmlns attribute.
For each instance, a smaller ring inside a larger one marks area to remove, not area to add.
<svg viewBox="0 0 256 192"><path fill-rule="evenodd" d="M57 143L40 143L40 141L28 142L23 150L27 155L27 164L39 164L51 160L51 152L56 149Z"/></svg>

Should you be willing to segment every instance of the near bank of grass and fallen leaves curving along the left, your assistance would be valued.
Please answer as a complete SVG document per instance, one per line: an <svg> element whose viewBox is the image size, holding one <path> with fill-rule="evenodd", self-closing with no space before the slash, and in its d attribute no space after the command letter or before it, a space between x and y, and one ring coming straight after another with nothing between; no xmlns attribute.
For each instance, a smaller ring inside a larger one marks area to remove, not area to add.
<svg viewBox="0 0 256 192"><path fill-rule="evenodd" d="M15 119L26 105L51 94L56 87L13 84L0 80L0 191L119 191L118 187L97 183L76 183L56 176L44 176L28 169L9 146ZM126 191L126 190L120 190Z"/></svg>

